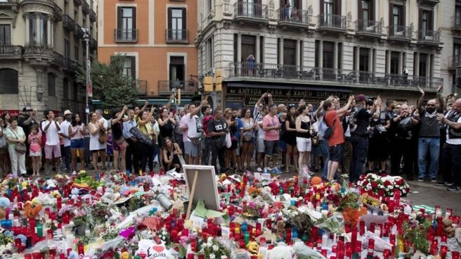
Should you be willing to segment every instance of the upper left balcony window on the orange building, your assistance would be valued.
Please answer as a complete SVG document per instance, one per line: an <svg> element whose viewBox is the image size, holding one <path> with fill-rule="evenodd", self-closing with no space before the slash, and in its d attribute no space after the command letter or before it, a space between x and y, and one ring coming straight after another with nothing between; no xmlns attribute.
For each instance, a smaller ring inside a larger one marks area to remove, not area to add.
<svg viewBox="0 0 461 259"><path fill-rule="evenodd" d="M117 39L136 39L136 7L117 8Z"/></svg>

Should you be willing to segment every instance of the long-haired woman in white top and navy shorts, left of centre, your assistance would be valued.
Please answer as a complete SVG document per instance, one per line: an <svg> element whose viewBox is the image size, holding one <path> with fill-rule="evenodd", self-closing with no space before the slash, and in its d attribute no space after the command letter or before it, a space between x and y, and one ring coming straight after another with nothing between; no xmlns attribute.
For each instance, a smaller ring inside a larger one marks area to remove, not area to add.
<svg viewBox="0 0 461 259"><path fill-rule="evenodd" d="M77 151L79 151L80 167L85 169L85 141L84 135L85 124L80 119L79 113L72 113L72 121L69 125L70 137L70 155L71 155L71 168L72 173L77 172Z"/></svg>

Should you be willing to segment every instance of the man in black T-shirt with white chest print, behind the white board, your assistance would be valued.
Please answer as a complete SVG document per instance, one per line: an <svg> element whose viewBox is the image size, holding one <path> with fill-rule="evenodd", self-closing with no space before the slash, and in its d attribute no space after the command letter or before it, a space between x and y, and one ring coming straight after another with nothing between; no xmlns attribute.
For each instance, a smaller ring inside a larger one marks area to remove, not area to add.
<svg viewBox="0 0 461 259"><path fill-rule="evenodd" d="M229 132L223 112L220 108L214 110L214 118L208 122L208 134L212 137L212 165L216 174L226 172L224 151L226 151L226 134ZM219 159L219 170L216 166L216 156Z"/></svg>

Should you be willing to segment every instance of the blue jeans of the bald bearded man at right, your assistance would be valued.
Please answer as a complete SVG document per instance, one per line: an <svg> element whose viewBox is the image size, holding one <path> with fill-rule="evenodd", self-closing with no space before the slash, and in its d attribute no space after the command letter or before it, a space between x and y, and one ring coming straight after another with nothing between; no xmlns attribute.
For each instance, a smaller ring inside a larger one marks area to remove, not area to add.
<svg viewBox="0 0 461 259"><path fill-rule="evenodd" d="M418 178L424 179L426 177L426 158L427 151L429 150L430 160L429 162L429 177L436 179L437 168L439 168L439 151L440 151L440 139L439 138L423 138L418 139L418 169L420 175Z"/></svg>

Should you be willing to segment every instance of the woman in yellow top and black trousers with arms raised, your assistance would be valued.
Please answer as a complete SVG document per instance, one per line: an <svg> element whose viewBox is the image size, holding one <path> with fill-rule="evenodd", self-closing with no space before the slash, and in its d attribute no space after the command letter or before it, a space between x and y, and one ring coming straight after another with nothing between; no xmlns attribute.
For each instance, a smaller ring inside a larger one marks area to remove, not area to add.
<svg viewBox="0 0 461 259"><path fill-rule="evenodd" d="M145 110L141 110L138 114L138 130L143 133L148 139L152 140L155 143L155 132L150 123L150 119L154 114L154 109L150 109L150 113ZM154 146L140 142L139 148L141 150L141 168L143 172L145 171L145 165L149 165L150 172L154 170Z"/></svg>

